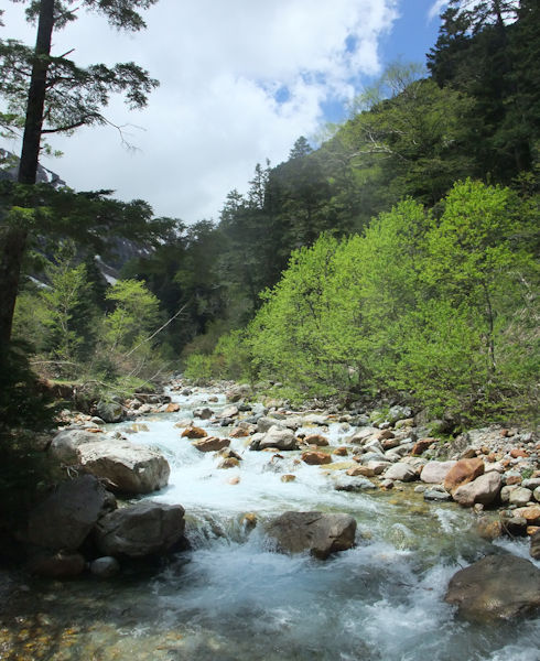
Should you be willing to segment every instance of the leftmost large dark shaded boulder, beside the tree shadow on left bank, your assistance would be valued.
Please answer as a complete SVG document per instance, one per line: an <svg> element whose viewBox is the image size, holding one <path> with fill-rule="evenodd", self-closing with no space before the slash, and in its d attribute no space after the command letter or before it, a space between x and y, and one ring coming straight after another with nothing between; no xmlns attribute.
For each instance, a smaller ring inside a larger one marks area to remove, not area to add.
<svg viewBox="0 0 540 661"><path fill-rule="evenodd" d="M115 508L115 497L96 477L76 477L62 483L30 512L24 539L51 551L75 551L99 517Z"/></svg>

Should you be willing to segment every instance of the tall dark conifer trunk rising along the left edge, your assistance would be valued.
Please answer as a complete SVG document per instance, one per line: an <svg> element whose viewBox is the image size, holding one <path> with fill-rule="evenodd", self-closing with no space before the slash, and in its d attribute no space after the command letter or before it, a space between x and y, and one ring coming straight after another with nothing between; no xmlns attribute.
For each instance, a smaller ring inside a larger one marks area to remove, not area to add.
<svg viewBox="0 0 540 661"><path fill-rule="evenodd" d="M37 173L48 56L51 54L51 39L54 28L54 3L55 0L41 0L40 3L37 39L34 50L35 59L32 66L21 161L19 164L18 182L20 184L35 184ZM0 346L4 347L11 338L13 312L26 246L28 228L8 225L2 235L0 254Z"/></svg>

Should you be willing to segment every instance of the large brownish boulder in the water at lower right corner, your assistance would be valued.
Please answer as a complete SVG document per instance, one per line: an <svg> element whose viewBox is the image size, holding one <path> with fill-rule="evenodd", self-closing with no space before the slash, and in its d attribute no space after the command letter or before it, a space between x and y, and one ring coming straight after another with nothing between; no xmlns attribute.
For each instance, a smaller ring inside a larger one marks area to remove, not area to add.
<svg viewBox="0 0 540 661"><path fill-rule="evenodd" d="M540 570L515 555L487 555L452 576L446 596L469 620L494 621L540 608Z"/></svg>

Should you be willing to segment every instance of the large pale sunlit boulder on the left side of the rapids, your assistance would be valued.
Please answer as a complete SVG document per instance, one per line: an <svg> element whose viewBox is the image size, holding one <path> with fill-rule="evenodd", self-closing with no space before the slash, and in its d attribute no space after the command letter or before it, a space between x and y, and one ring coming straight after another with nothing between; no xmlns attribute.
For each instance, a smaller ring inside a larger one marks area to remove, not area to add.
<svg viewBox="0 0 540 661"><path fill-rule="evenodd" d="M84 468L104 478L112 490L123 494L149 494L169 481L171 472L165 457L147 445L127 441L100 441L78 447Z"/></svg>

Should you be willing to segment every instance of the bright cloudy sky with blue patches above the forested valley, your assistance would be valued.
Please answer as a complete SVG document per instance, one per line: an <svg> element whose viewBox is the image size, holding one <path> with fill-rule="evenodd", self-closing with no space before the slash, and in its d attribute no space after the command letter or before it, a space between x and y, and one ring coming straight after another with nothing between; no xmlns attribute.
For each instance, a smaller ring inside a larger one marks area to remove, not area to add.
<svg viewBox="0 0 540 661"><path fill-rule="evenodd" d="M160 0L147 30L126 34L80 12L55 33L53 54L77 64L134 61L160 80L148 107L115 98L104 115L123 126L48 140L42 164L77 191L115 189L155 215L219 219L226 195L245 193L257 163L285 161L300 136L327 122L396 59L425 63L443 0ZM6 6L6 3L4 3ZM8 3L2 39L34 41L22 6ZM3 143L18 152L17 143Z"/></svg>

